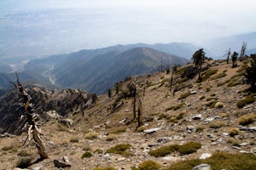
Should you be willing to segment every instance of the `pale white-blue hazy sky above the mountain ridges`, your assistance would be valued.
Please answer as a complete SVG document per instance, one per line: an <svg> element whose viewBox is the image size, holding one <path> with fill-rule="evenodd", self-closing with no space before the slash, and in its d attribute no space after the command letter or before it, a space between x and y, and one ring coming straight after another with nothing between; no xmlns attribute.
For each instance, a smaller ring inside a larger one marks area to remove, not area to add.
<svg viewBox="0 0 256 170"><path fill-rule="evenodd" d="M4 27L11 14L58 9L61 13L45 14L49 17L43 19L43 15L35 14L35 20L22 22L22 16L17 25L22 24L21 31L32 30L33 24L39 25L42 20L42 26L34 28L45 35L37 37L34 33L37 41L55 39L60 46L66 43L69 51L119 43L201 43L214 37L256 31L255 8L255 0L1 0L0 36L13 34L5 30L9 26ZM60 20L64 20L65 14L68 20L63 24ZM53 16L55 20L51 20ZM53 25L52 30L49 25ZM61 32L61 37L56 32Z"/></svg>

